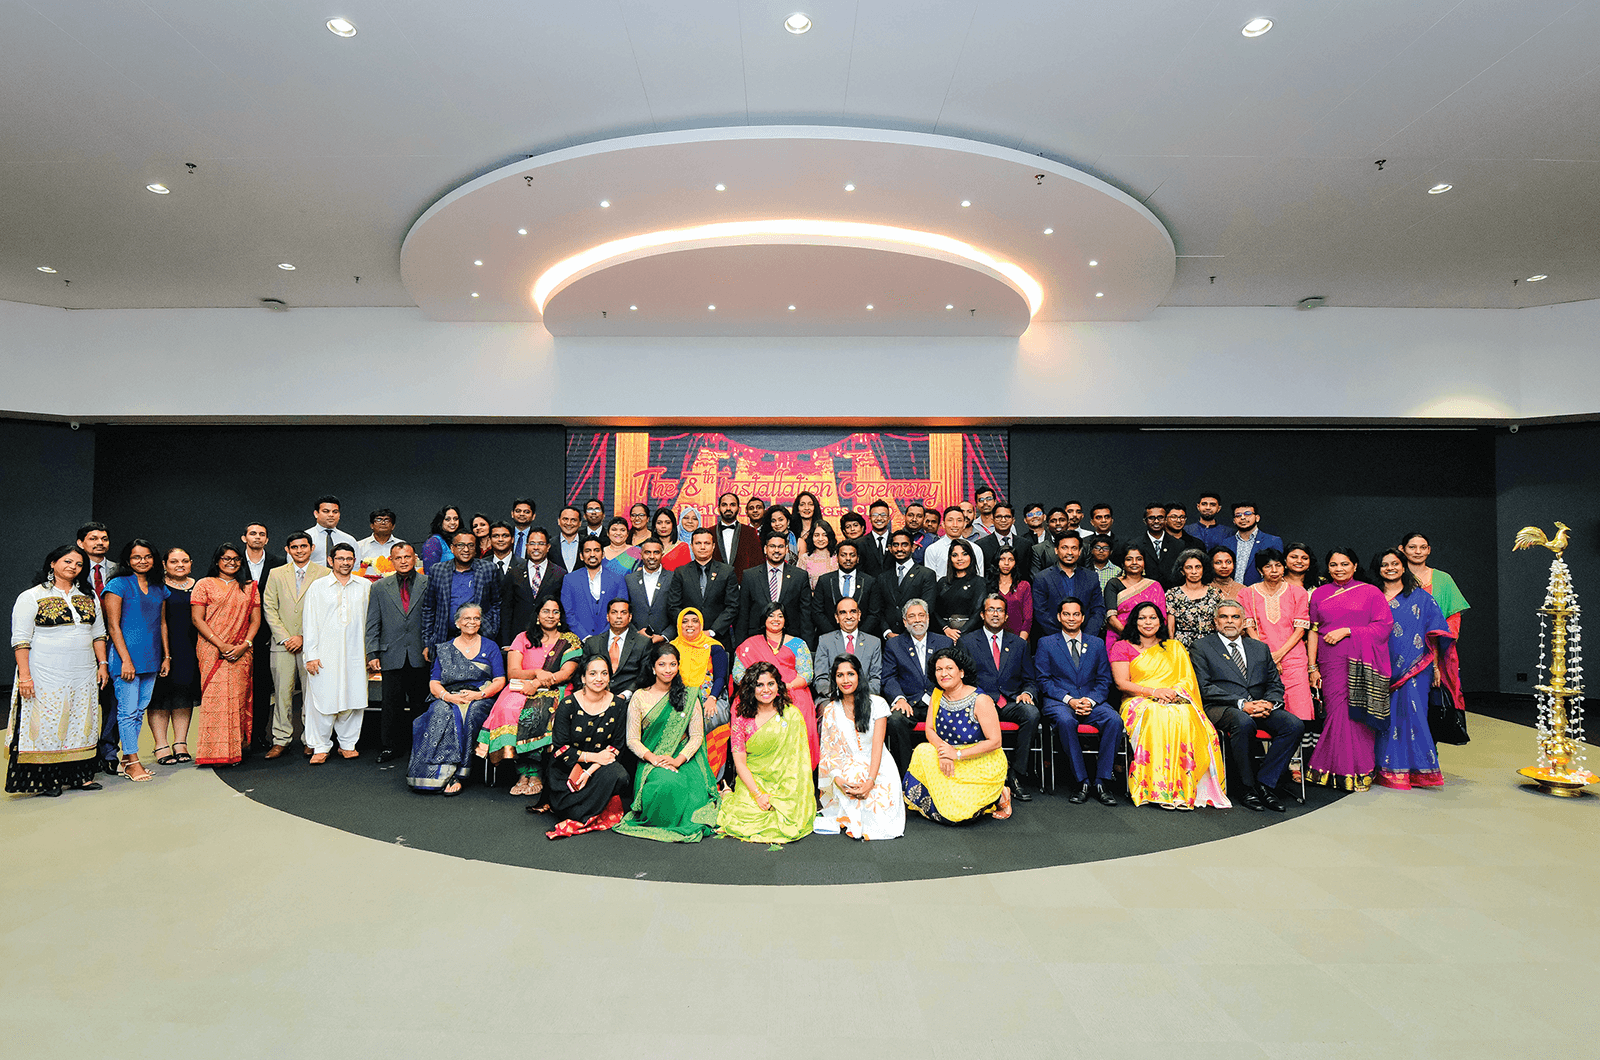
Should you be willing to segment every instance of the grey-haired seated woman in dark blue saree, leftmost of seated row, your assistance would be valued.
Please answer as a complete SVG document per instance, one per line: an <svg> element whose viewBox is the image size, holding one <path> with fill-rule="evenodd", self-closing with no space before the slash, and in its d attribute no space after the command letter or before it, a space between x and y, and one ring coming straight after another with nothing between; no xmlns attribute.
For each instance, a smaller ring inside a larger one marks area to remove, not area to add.
<svg viewBox="0 0 1600 1060"><path fill-rule="evenodd" d="M506 660L488 637L478 636L483 610L477 604L456 608L454 640L434 645L434 697L411 722L411 764L405 781L418 791L461 794L472 764L472 745L490 716L494 695L506 685Z"/></svg>

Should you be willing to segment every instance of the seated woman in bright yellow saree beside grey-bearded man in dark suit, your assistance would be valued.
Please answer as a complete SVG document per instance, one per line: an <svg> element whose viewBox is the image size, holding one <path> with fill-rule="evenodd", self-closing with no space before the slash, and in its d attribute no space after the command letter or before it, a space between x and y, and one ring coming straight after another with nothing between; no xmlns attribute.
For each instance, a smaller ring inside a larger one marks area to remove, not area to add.
<svg viewBox="0 0 1600 1060"><path fill-rule="evenodd" d="M1128 794L1134 805L1155 802L1163 810L1229 807L1222 748L1205 716L1200 682L1184 645L1162 639L1165 626L1155 604L1139 604L1128 615L1125 639L1110 650L1133 745Z"/></svg>

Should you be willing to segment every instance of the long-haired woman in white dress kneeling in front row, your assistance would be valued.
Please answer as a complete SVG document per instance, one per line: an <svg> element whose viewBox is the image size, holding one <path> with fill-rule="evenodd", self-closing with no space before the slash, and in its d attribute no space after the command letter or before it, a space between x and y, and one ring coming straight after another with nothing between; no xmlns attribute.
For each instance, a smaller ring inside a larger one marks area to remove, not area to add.
<svg viewBox="0 0 1600 1060"><path fill-rule="evenodd" d="M835 698L822 706L816 833L898 839L906 834L906 797L894 761L885 769L890 705L867 692L861 660L848 652L834 660L832 687Z"/></svg>

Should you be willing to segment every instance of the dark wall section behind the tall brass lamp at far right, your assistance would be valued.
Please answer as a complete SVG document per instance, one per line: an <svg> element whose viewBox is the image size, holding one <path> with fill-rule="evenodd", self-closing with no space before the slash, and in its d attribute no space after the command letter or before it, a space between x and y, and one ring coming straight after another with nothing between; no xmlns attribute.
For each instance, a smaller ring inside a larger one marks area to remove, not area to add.
<svg viewBox="0 0 1600 1060"><path fill-rule="evenodd" d="M1555 533L1555 520L1571 527L1563 559L1573 572L1579 604L1600 607L1600 424L1522 428L1494 439L1499 488L1498 559L1501 616L1501 687L1533 692L1539 655L1539 616L1554 556L1546 549L1512 552L1517 532L1536 525ZM1589 690L1595 695L1594 682Z"/></svg>

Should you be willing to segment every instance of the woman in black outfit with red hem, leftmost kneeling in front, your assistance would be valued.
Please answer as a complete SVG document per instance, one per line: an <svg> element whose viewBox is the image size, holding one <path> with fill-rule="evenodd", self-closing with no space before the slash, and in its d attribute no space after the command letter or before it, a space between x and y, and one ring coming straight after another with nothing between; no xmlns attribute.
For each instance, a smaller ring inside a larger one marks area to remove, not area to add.
<svg viewBox="0 0 1600 1060"><path fill-rule="evenodd" d="M544 833L550 839L616 828L632 786L621 762L627 705L611 695L611 660L590 655L579 673L582 685L555 708L550 729L555 749L544 791L550 796L550 813L560 821Z"/></svg>

